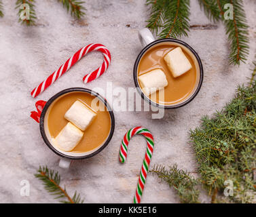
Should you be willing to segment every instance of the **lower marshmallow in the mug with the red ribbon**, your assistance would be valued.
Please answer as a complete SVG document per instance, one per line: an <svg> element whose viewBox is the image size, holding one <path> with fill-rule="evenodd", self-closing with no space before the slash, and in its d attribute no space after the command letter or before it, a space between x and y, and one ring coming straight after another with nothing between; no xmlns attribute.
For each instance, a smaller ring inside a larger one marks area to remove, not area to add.
<svg viewBox="0 0 256 217"><path fill-rule="evenodd" d="M83 136L84 133L69 122L53 140L62 151L72 151Z"/></svg>

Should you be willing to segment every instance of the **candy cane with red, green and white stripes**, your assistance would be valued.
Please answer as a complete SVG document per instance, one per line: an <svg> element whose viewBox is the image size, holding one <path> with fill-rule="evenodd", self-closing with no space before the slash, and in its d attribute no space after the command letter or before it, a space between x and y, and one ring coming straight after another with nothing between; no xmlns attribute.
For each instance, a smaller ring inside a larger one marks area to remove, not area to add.
<svg viewBox="0 0 256 217"><path fill-rule="evenodd" d="M122 140L119 159L120 159L121 163L124 163L126 161L128 142L130 141L132 136L134 136L136 134L141 134L141 135L145 136L145 138L147 140L147 151L145 154L145 158L143 159L141 173L139 176L139 182L138 182L138 185L136 188L136 193L135 193L135 196L133 199L134 203L141 203L141 197L143 194L143 189L144 189L146 178L147 178L147 172L149 170L149 163L151 161L151 157L153 154L154 142L153 142L153 135L151 134L151 132L149 132L149 130L145 129L144 127L134 127L132 129L130 129L124 135L124 139Z"/></svg>

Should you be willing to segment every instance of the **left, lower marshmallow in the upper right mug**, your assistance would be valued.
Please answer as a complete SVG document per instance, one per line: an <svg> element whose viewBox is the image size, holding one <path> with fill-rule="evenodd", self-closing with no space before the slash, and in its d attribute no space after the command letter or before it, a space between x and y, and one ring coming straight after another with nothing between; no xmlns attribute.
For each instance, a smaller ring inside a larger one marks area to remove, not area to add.
<svg viewBox="0 0 256 217"><path fill-rule="evenodd" d="M149 73L139 76L139 81L143 85L143 92L149 96L168 85L168 81L161 69L154 69Z"/></svg>

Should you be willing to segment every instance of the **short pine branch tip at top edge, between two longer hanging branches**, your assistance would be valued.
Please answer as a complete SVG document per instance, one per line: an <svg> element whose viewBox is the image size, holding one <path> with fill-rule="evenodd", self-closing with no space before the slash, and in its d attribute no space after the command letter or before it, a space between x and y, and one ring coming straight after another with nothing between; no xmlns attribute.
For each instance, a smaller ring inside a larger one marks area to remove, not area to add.
<svg viewBox="0 0 256 217"><path fill-rule="evenodd" d="M219 13L219 6L217 1L219 0L198 0L201 9L204 9L204 14L206 14L209 20L213 20L213 22L217 22L221 19Z"/></svg>

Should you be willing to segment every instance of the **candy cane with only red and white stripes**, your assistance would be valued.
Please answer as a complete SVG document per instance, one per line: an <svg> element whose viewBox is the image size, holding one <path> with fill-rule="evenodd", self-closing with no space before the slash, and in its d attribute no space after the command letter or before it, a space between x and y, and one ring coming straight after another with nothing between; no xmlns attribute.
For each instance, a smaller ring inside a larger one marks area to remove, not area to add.
<svg viewBox="0 0 256 217"><path fill-rule="evenodd" d="M34 98L37 97L41 92L43 92L47 87L49 87L54 81L56 81L61 75L66 73L75 62L79 61L83 56L88 54L89 52L98 50L103 53L104 55L104 61L103 64L97 68L94 72L88 73L84 76L83 80L84 83L88 83L105 73L107 68L109 67L110 61L111 61L111 54L107 47L104 45L101 45L100 43L91 43L90 45L86 45L85 47L82 47L78 52L76 52L65 64L62 64L58 70L56 70L52 75L50 75L47 79L45 79L43 82L41 82L35 89L31 92L31 96Z"/></svg>

